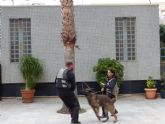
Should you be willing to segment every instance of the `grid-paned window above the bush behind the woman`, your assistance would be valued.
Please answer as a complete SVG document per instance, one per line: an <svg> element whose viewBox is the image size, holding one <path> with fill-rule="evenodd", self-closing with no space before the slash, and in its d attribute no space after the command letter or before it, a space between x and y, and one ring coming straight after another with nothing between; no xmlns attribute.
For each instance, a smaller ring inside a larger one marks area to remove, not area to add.
<svg viewBox="0 0 165 124"><path fill-rule="evenodd" d="M116 59L135 60L135 17L115 18Z"/></svg>

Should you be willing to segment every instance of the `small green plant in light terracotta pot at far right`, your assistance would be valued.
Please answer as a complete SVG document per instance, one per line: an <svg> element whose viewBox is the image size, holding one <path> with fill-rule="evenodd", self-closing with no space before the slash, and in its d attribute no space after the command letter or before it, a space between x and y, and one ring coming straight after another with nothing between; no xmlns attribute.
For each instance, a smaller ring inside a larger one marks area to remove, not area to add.
<svg viewBox="0 0 165 124"><path fill-rule="evenodd" d="M156 83L151 76L148 77L148 80L146 81L146 86L147 88L144 89L146 98L155 99L157 88Z"/></svg>

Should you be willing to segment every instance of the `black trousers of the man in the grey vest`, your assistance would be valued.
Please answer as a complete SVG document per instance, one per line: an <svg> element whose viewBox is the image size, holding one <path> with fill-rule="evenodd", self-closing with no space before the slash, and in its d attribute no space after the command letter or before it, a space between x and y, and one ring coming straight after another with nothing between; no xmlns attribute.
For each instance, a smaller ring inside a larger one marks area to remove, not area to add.
<svg viewBox="0 0 165 124"><path fill-rule="evenodd" d="M74 92L69 89L58 88L58 95L71 113L71 122L78 122L80 105Z"/></svg>

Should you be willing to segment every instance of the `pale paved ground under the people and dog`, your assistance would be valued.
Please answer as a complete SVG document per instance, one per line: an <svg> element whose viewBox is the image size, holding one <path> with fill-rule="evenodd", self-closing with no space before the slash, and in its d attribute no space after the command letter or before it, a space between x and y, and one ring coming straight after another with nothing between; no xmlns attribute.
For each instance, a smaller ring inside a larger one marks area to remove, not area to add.
<svg viewBox="0 0 165 124"><path fill-rule="evenodd" d="M80 105L87 112L80 114L82 124L101 124L84 97ZM70 115L59 114L59 98L35 98L23 104L21 99L0 101L0 124L70 124ZM165 99L147 100L143 94L120 95L116 102L119 111L117 124L165 124ZM110 114L109 114L110 115ZM113 123L113 118L104 124Z"/></svg>

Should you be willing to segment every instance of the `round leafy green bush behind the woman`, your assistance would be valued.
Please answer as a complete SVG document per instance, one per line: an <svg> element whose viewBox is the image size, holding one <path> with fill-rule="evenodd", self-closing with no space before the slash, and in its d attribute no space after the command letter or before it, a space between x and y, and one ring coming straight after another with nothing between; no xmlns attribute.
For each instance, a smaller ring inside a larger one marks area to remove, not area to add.
<svg viewBox="0 0 165 124"><path fill-rule="evenodd" d="M117 98L120 85L123 81L124 76L124 66L115 59L110 58L100 58L97 64L93 67L93 71L96 72L96 80L100 86L107 80L107 70L108 68L113 68L116 71L117 76L117 89L115 89L115 96Z"/></svg>

